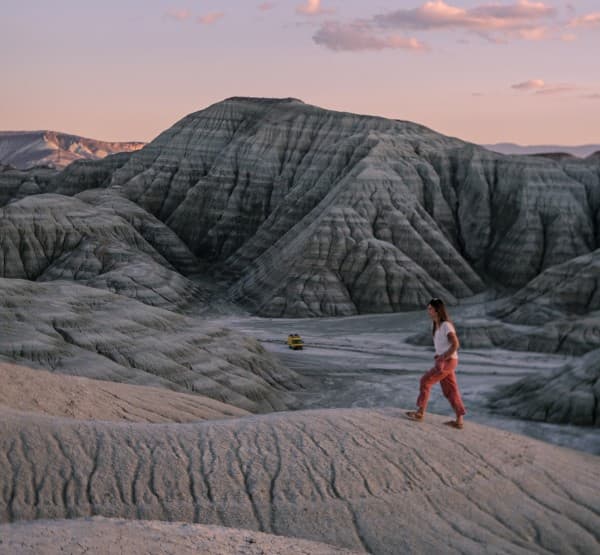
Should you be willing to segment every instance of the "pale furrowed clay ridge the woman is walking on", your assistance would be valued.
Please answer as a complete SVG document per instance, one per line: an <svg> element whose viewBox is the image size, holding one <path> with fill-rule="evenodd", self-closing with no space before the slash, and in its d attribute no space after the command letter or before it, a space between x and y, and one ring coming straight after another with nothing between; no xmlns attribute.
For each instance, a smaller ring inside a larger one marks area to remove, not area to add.
<svg viewBox="0 0 600 555"><path fill-rule="evenodd" d="M598 457L397 409L193 424L5 411L0 520L197 522L372 553L593 553Z"/></svg>

